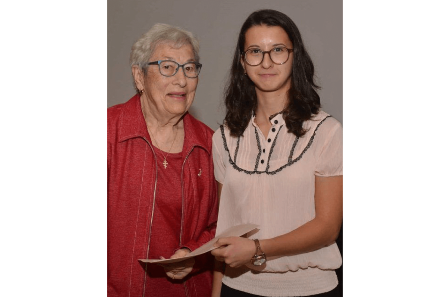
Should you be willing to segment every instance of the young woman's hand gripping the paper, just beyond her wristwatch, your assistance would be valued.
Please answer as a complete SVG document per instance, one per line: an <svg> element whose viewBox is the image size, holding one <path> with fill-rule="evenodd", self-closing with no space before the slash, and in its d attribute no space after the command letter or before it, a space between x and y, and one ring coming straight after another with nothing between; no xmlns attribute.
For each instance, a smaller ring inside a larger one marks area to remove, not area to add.
<svg viewBox="0 0 446 297"><path fill-rule="evenodd" d="M240 267L248 263L256 252L254 241L243 237L220 238L211 253L217 261L225 262L230 267Z"/></svg>

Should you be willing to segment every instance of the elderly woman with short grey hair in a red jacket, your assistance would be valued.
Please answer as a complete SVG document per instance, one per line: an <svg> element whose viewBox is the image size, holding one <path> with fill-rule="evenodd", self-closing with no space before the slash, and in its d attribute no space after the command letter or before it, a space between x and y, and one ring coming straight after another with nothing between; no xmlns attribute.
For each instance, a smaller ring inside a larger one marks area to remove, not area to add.
<svg viewBox="0 0 446 297"><path fill-rule="evenodd" d="M194 36L156 24L132 47L137 94L107 109L107 296L210 296L212 256L165 266L214 238L213 130L187 111L201 64Z"/></svg>

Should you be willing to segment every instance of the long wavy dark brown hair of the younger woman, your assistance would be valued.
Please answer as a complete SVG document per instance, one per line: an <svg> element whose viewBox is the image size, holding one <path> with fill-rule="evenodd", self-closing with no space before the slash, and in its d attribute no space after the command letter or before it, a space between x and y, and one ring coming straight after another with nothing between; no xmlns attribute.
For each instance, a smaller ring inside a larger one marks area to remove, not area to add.
<svg viewBox="0 0 446 297"><path fill-rule="evenodd" d="M296 24L285 14L272 10L258 10L248 16L238 35L238 42L232 60L230 76L224 89L226 105L225 125L232 136L242 136L252 112L257 107L257 96L253 82L244 75L240 63L241 53L245 46L245 33L252 26L279 26L285 30L293 44L293 66L291 71L291 87L288 90L288 105L283 111L283 118L288 132L300 137L305 134L302 123L317 114L321 101L314 81L314 65L305 50L300 32Z"/></svg>

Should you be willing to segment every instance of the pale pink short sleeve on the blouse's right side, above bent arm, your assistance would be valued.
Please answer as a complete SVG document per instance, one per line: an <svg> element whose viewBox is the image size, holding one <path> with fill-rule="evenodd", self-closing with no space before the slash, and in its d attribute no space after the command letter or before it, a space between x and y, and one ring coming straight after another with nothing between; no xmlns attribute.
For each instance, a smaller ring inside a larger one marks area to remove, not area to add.
<svg viewBox="0 0 446 297"><path fill-rule="evenodd" d="M320 129L318 143L321 147L317 155L315 174L327 177L344 175L343 128L334 118L330 118L326 122L321 125L322 129Z"/></svg>

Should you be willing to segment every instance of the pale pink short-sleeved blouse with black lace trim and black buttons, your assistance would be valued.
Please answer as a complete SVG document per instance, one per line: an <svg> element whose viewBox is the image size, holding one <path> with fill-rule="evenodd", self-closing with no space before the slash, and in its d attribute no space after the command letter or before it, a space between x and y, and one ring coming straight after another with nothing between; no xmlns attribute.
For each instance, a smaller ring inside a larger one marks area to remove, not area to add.
<svg viewBox="0 0 446 297"><path fill-rule="evenodd" d="M288 133L282 115L271 119L265 138L254 122L244 136L222 126L213 136L215 177L223 184L217 235L244 223L259 225L247 235L268 239L315 217L315 175L343 175L343 128L320 111L304 123L301 138ZM308 296L334 289L341 256L334 243L294 256L268 257L266 265L226 266L223 283L255 295Z"/></svg>

